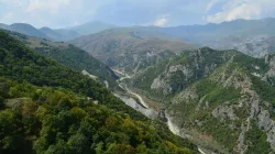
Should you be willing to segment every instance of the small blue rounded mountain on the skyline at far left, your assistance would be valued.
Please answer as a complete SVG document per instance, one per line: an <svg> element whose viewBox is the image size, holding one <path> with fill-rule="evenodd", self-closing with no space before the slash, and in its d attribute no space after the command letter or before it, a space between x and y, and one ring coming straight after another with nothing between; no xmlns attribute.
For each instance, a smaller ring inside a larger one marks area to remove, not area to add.
<svg viewBox="0 0 275 154"><path fill-rule="evenodd" d="M45 35L43 32L36 30L30 24L26 23L13 23L8 26L8 30L14 31L18 33L22 33L29 36L35 36L35 37L41 37L41 38L47 38L51 40L47 35Z"/></svg>

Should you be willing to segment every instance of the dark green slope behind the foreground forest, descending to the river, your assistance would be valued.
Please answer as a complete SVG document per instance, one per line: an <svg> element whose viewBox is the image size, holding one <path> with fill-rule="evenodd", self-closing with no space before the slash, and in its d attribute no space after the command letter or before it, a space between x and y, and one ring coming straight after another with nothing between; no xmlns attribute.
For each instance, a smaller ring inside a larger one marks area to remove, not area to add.
<svg viewBox="0 0 275 154"><path fill-rule="evenodd" d="M55 59L58 63L75 70L86 70L102 84L106 82L110 89L116 89L116 79L118 77L114 75L114 73L108 66L94 58L85 51L74 45L61 42L51 42L37 37L30 37L19 33L9 33L38 54Z"/></svg>

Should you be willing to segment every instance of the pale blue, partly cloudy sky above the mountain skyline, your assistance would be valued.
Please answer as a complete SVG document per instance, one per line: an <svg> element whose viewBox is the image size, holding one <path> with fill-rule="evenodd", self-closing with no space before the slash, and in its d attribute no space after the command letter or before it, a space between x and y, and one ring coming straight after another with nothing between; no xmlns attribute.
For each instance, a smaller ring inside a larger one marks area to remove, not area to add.
<svg viewBox="0 0 275 154"><path fill-rule="evenodd" d="M275 18L275 0L0 0L0 23L175 26Z"/></svg>

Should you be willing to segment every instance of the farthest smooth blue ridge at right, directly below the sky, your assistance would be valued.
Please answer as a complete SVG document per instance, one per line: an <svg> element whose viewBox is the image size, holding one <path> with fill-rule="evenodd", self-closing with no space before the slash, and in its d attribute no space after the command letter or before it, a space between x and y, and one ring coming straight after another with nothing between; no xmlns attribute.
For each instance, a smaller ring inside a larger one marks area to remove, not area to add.
<svg viewBox="0 0 275 154"><path fill-rule="evenodd" d="M228 35L253 36L261 34L275 35L275 19L262 20L234 20L220 24L209 23L206 25L180 25L172 28L156 28L160 31L183 36L194 41L218 40ZM213 37L205 37L213 36Z"/></svg>

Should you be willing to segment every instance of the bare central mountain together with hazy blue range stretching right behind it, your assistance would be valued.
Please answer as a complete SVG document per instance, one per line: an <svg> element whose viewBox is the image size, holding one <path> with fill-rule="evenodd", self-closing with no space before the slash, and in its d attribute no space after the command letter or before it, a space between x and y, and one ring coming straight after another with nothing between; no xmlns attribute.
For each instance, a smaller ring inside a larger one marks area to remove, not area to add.
<svg viewBox="0 0 275 154"><path fill-rule="evenodd" d="M253 57L264 57L275 48L273 25L275 19L175 28L116 28L79 36L68 43L110 67L135 74L163 59L160 53L170 56L200 46L237 50Z"/></svg>

